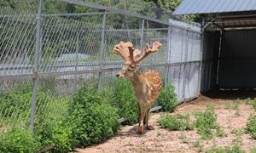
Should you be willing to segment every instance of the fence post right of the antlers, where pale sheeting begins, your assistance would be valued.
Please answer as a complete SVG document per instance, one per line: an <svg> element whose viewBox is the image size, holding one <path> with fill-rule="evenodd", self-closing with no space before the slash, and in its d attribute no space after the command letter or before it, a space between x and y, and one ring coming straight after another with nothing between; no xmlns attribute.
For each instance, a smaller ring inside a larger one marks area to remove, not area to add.
<svg viewBox="0 0 256 153"><path fill-rule="evenodd" d="M167 31L167 54L166 54L166 71L165 71L165 86L167 82L169 81L168 79L168 74L169 74L169 63L170 63L170 55L171 55L171 43L172 43L172 26L168 26L168 31Z"/></svg>

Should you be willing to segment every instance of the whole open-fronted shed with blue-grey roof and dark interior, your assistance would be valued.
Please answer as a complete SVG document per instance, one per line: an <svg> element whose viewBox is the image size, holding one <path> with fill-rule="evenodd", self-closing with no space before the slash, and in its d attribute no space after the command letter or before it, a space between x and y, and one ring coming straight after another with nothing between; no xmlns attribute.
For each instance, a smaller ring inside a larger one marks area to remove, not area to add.
<svg viewBox="0 0 256 153"><path fill-rule="evenodd" d="M256 0L183 0L173 14L203 17L201 92L256 88Z"/></svg>

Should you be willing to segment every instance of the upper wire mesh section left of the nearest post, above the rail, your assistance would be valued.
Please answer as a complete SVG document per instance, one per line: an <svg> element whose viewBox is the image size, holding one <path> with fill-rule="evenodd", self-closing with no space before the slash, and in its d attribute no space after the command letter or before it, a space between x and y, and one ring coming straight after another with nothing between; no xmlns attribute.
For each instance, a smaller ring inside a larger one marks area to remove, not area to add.
<svg viewBox="0 0 256 153"><path fill-rule="evenodd" d="M0 14L0 76L32 73L35 15Z"/></svg>

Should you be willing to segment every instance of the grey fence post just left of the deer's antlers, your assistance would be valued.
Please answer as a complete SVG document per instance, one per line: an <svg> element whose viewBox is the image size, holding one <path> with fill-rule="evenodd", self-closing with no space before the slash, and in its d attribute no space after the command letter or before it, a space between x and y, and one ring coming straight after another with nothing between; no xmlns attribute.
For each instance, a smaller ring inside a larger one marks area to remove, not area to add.
<svg viewBox="0 0 256 153"><path fill-rule="evenodd" d="M99 72L98 90L102 89L102 78L103 78L102 68L103 68L104 48L105 48L106 16L107 16L107 11L105 10L102 18L102 41L101 41L101 48L100 48L100 72Z"/></svg>

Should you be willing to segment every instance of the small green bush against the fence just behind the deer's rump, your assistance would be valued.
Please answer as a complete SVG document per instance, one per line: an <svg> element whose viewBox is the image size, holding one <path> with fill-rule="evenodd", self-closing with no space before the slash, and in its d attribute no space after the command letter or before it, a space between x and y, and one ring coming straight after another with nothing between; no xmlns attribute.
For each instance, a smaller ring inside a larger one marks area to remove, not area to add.
<svg viewBox="0 0 256 153"><path fill-rule="evenodd" d="M177 95L175 94L175 88L172 83L166 84L166 87L162 89L156 103L162 106L162 111L172 112L177 107Z"/></svg>

